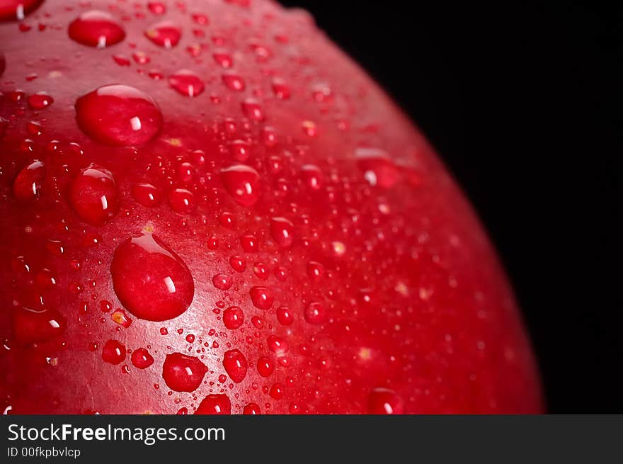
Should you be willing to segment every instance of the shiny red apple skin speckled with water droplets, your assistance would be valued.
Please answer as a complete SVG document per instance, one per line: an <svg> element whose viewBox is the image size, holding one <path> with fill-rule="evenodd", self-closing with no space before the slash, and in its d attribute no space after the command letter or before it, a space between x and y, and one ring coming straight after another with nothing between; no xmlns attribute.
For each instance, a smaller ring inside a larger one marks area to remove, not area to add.
<svg viewBox="0 0 623 464"><path fill-rule="evenodd" d="M164 14L157 2L68 3L43 2L30 29L0 24L6 412L543 411L520 312L469 203L308 13L259 0L171 2ZM90 10L125 38L69 38ZM160 21L181 29L170 49L146 36ZM115 146L81 130L77 99L110 84L155 102L156 135ZM30 100L40 93L51 98ZM44 167L24 171L35 160ZM240 165L252 169L228 176ZM110 179L76 183L86 169ZM81 196L98 188L107 215ZM132 254L146 234L168 258ZM161 266L188 284L181 297L194 285L188 308L140 286Z"/></svg>

